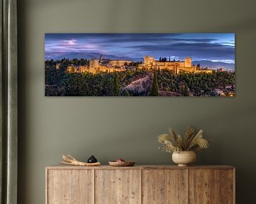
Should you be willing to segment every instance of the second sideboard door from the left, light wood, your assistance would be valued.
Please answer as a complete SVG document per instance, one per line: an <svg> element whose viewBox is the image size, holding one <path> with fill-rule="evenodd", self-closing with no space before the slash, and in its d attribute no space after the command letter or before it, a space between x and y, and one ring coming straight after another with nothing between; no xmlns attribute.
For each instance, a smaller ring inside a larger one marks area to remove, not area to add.
<svg viewBox="0 0 256 204"><path fill-rule="evenodd" d="M95 170L95 203L140 203L140 172L138 169Z"/></svg>

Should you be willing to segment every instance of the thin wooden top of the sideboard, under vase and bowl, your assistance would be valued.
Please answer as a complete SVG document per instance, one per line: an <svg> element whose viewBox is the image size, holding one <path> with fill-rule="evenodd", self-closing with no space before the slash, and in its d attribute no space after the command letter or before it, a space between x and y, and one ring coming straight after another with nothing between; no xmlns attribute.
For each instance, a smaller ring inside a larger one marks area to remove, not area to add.
<svg viewBox="0 0 256 204"><path fill-rule="evenodd" d="M46 169L235 169L234 166L228 165L203 165L203 166L174 166L174 165L134 165L134 166L68 166L53 165L46 166Z"/></svg>

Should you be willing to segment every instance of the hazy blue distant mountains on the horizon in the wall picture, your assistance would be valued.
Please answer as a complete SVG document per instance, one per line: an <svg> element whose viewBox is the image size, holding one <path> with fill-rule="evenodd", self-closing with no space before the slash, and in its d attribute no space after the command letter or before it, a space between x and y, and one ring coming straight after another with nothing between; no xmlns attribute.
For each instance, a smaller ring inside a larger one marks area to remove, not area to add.
<svg viewBox="0 0 256 204"><path fill-rule="evenodd" d="M90 53L78 53L78 52L46 52L45 58L46 60L61 60L63 58L66 59L93 59L93 58L100 58L100 53L97 52L90 52ZM143 57L118 57L116 55L102 55L103 58L105 59L110 59L110 60L132 60L134 62L140 62L144 61ZM225 68L228 70L235 69L235 64L233 63L225 63L225 62L212 62L210 60L199 60L199 61L193 61L192 64L200 64L201 68L208 67L208 69L220 69L220 68Z"/></svg>

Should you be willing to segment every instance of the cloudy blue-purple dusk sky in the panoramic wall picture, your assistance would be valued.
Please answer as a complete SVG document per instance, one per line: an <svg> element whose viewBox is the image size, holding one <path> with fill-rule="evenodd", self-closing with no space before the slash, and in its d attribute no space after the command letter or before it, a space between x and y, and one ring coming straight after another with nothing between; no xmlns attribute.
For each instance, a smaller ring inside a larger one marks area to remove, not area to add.
<svg viewBox="0 0 256 204"><path fill-rule="evenodd" d="M46 33L45 51L100 53L119 57L145 55L183 60L235 63L234 33L64 34Z"/></svg>

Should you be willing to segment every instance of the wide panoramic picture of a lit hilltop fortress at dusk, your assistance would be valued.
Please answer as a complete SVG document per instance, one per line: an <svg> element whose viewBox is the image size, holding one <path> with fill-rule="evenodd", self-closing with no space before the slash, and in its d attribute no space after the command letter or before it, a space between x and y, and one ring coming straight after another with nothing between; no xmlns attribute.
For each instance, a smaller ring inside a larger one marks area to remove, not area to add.
<svg viewBox="0 0 256 204"><path fill-rule="evenodd" d="M46 33L45 96L235 96L235 34Z"/></svg>

